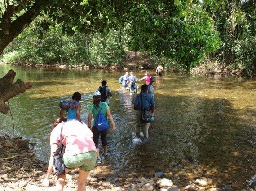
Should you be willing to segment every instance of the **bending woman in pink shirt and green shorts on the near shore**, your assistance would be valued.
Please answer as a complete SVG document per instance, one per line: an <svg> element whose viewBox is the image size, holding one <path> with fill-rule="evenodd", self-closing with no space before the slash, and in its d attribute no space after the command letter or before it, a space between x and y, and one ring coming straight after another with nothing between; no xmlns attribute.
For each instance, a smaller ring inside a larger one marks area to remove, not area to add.
<svg viewBox="0 0 256 191"><path fill-rule="evenodd" d="M63 155L65 174L57 175L56 190L62 191L65 186L66 173L79 168L77 179L77 190L86 190L86 178L93 170L97 158L97 150L93 142L93 133L85 123L78 120L62 122L63 119L56 119L51 132L51 156L46 177L42 181L43 187L49 186L50 175L53 171L53 152L56 151L60 142L62 128L62 144L66 147ZM66 119L64 119L66 121Z"/></svg>

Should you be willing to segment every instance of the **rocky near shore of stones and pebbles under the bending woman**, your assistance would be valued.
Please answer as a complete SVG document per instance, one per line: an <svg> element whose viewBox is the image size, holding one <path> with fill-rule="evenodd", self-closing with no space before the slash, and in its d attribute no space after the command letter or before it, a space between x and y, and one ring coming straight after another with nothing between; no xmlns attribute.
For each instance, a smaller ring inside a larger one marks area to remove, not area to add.
<svg viewBox="0 0 256 191"><path fill-rule="evenodd" d="M14 143L14 144L13 144ZM29 140L22 137L12 139L10 136L0 136L0 191L54 191L57 176L52 173L50 186L44 188L41 181L47 171L48 164L40 161L33 152L33 146ZM161 178L164 173L156 173L147 179L135 174L124 178L120 174L117 177L111 166L95 166L87 178L87 191L215 191L216 188L209 185L203 179L189 181L187 186L175 185L170 179ZM76 191L78 170L66 174L64 191Z"/></svg>

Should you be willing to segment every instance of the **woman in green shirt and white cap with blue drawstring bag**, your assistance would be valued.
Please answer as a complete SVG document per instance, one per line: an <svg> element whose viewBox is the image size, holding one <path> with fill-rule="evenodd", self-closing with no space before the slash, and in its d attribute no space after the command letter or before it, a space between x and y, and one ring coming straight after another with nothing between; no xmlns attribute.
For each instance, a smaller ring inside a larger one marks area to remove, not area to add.
<svg viewBox="0 0 256 191"><path fill-rule="evenodd" d="M89 117L88 117L88 127L91 127L91 123L92 123L92 118L94 118L95 120L97 119L99 110L101 110L102 115L104 116L104 118L107 121L107 116L110 119L110 122L112 123L113 126L113 130L116 129L115 127L115 122L114 119L110 113L109 110L109 106L107 105L106 102L101 102L101 93L96 90L93 92L93 104L91 104L89 106ZM97 149L97 164L101 164L101 158L100 158L100 150L99 150L99 138L101 136L101 140L102 140L102 146L104 149L104 154L107 154L107 129L104 131L98 131L96 124L95 124L95 120L93 121L93 127L92 127L92 132L93 132L93 142L96 146Z"/></svg>

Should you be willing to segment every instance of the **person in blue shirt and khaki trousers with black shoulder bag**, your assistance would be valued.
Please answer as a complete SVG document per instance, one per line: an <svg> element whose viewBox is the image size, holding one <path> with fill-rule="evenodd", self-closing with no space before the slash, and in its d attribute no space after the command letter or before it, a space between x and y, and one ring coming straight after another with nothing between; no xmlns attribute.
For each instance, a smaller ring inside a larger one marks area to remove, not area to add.
<svg viewBox="0 0 256 191"><path fill-rule="evenodd" d="M141 86L141 93L142 94L142 106L145 110L150 111L150 107L151 107L151 114L152 116L154 116L154 111L155 111L155 102L154 102L154 98L153 96L151 96L149 93L147 93L148 91L148 85L143 84ZM134 109L137 110L136 113L136 122L137 122L137 127L136 127L136 135L138 136L139 133L143 132L144 134L144 138L148 138L149 137L149 126L150 123L143 123L141 122L141 98L140 98L140 94L136 95L135 97L135 101L133 103Z"/></svg>

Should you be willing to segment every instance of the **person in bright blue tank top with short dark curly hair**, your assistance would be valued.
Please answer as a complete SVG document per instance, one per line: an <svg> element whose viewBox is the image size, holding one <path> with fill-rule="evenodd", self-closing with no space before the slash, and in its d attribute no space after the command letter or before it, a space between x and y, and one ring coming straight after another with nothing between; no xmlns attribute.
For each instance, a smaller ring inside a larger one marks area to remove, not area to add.
<svg viewBox="0 0 256 191"><path fill-rule="evenodd" d="M81 110L81 93L75 92L72 96L72 100L69 100L69 108L67 110L67 120L76 119L81 121L80 110ZM63 118L64 109L61 109L60 117Z"/></svg>

